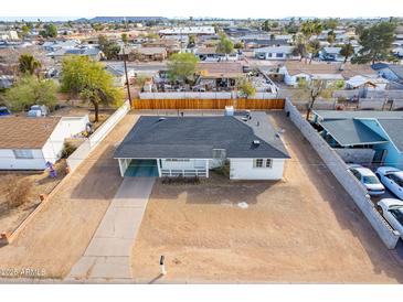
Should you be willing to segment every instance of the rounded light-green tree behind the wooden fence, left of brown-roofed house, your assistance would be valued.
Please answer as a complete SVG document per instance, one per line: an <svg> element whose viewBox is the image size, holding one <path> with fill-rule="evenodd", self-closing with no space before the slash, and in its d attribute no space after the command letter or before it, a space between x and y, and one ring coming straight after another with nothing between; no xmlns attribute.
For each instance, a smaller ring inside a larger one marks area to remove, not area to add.
<svg viewBox="0 0 403 302"><path fill-rule="evenodd" d="M199 58L191 53L172 54L168 58L168 75L171 80L190 82L197 71Z"/></svg>

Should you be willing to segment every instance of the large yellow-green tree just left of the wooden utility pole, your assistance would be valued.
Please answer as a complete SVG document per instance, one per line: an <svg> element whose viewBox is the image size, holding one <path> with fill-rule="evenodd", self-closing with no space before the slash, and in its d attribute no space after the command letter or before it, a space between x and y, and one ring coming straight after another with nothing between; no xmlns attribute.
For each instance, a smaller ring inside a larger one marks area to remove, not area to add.
<svg viewBox="0 0 403 302"><path fill-rule="evenodd" d="M99 105L119 106L123 91L114 87L112 75L104 65L87 56L67 56L62 63L61 90L78 96L94 106L98 121Z"/></svg>

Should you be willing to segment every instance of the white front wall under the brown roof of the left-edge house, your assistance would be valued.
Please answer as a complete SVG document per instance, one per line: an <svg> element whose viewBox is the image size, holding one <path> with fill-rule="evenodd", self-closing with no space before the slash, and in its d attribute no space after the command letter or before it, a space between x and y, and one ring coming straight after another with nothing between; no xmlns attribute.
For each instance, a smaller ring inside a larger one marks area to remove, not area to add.
<svg viewBox="0 0 403 302"><path fill-rule="evenodd" d="M12 149L0 150L0 170L44 170L45 160L40 149L32 149L33 159L15 159Z"/></svg>

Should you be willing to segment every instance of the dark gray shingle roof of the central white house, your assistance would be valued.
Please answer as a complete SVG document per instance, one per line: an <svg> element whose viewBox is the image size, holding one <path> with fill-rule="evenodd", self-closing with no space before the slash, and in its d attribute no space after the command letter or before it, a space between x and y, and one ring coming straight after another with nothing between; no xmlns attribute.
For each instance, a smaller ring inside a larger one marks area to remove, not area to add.
<svg viewBox="0 0 403 302"><path fill-rule="evenodd" d="M258 123L258 126L257 126ZM259 140L256 147L254 140ZM247 122L241 117L146 117L126 136L114 158L211 159L213 149L227 158L288 159L265 114Z"/></svg>

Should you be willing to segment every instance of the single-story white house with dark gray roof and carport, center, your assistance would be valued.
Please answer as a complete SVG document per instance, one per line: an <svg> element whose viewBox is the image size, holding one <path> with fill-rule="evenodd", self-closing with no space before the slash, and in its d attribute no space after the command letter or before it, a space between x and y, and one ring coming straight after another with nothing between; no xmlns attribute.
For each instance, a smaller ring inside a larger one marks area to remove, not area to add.
<svg viewBox="0 0 403 302"><path fill-rule="evenodd" d="M209 177L209 170L227 165L231 180L280 180L290 157L265 112L235 112L142 116L114 158L121 176Z"/></svg>

